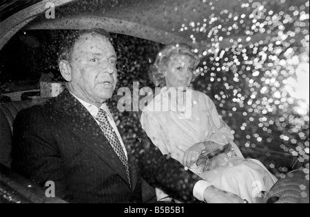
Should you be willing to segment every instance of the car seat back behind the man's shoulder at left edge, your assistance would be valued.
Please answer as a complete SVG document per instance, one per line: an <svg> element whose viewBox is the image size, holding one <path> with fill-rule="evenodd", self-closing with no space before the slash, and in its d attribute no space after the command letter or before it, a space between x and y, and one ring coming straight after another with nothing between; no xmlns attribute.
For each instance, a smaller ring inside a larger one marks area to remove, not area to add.
<svg viewBox="0 0 310 217"><path fill-rule="evenodd" d="M45 102L46 99L34 99L0 104L0 163L10 168L13 124L17 113Z"/></svg>

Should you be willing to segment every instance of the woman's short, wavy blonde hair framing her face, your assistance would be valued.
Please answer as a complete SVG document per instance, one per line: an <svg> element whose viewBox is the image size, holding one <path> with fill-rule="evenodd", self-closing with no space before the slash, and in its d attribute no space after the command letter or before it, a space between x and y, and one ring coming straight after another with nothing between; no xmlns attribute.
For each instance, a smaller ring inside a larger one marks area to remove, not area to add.
<svg viewBox="0 0 310 217"><path fill-rule="evenodd" d="M200 59L194 52L194 48L185 43L172 43L165 45L156 56L154 64L149 69L149 78L154 82L155 86L165 86L165 71L167 70L168 63L172 60L174 55L185 55L195 60L195 69L198 66ZM194 73L194 77L198 76L198 73Z"/></svg>

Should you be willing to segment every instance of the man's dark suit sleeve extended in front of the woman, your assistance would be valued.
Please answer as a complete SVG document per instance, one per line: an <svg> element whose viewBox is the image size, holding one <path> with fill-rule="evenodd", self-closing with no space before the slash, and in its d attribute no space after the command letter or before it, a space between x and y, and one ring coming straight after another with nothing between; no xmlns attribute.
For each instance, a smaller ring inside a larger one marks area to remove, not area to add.
<svg viewBox="0 0 310 217"><path fill-rule="evenodd" d="M163 155L143 130L136 148L134 155L141 165L141 175L149 185L163 191L164 194L159 196L171 196L183 203L194 203L195 197L201 199L196 192L200 189L200 184L196 184L202 179L192 171L185 170L184 166L171 156Z"/></svg>

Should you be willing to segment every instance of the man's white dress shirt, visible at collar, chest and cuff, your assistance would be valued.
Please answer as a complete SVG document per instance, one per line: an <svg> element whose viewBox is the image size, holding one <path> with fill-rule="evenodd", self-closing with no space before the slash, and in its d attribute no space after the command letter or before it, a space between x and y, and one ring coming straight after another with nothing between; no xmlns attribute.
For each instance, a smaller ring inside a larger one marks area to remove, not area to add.
<svg viewBox="0 0 310 217"><path fill-rule="evenodd" d="M87 109L87 111L90 112L90 114L92 115L92 117L94 117L95 121L97 122L97 124L99 125L99 122L96 120L96 116L99 113L99 108L97 106L94 106L93 104L90 104L88 102L85 102L83 100L81 100L80 98L76 97L76 95L74 95L72 92L70 92L74 98L76 98L76 100L79 100L79 102L81 102L81 104L83 104L83 106L85 107L85 109ZM109 108L107 107L107 105L104 103L102 104L102 106L100 107L100 109L103 109L106 113L107 113L107 119L110 122L112 128L114 129L119 141L121 142L121 146L123 147L123 150L125 152L125 156L127 157L127 150L125 148L125 145L123 143L123 139L121 138L120 133L118 132L118 128L116 127L116 124L114 122L113 116L109 110ZM196 185L194 186L194 191L193 191L193 195L195 198L197 198L199 201L204 201L203 198L203 192L205 192L205 189L207 187L209 187L211 184L207 183L206 181L198 181L196 183Z"/></svg>

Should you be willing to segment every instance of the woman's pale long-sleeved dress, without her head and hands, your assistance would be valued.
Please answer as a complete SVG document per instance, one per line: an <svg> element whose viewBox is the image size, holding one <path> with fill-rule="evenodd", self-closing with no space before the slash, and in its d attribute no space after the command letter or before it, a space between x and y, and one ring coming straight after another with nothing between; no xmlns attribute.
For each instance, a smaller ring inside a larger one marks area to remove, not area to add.
<svg viewBox="0 0 310 217"><path fill-rule="evenodd" d="M216 170L202 172L189 168L221 190L237 194L250 203L258 203L261 192L268 192L277 179L256 159L244 159L234 144L231 128L216 111L212 100L204 93L188 89L186 105L176 104L176 91L164 87L141 115L141 124L153 143L164 155L183 162L185 151L202 141L214 141L234 148L234 155ZM158 201L167 198L156 189Z"/></svg>

